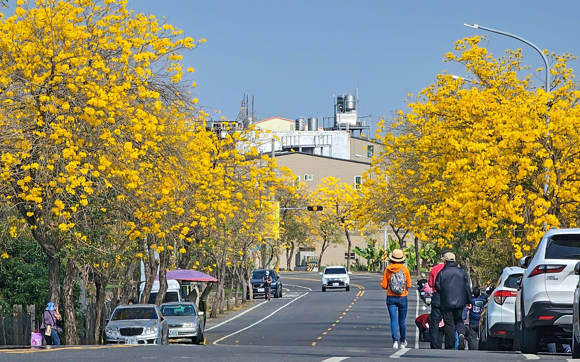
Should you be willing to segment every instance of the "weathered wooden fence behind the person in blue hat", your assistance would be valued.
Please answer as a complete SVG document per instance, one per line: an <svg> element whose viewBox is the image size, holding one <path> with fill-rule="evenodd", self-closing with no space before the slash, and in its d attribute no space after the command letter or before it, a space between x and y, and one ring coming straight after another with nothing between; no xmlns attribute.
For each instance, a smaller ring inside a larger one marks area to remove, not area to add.
<svg viewBox="0 0 580 362"><path fill-rule="evenodd" d="M105 320L111 316L115 307L113 302L105 302L101 328L104 328ZM0 346L30 346L30 334L40 327L42 312L44 312L44 305L37 308L35 305L24 307L15 304L12 310L4 310L0 306ZM96 301L88 299L86 309L77 314L77 330L82 345L96 344L95 322Z"/></svg>

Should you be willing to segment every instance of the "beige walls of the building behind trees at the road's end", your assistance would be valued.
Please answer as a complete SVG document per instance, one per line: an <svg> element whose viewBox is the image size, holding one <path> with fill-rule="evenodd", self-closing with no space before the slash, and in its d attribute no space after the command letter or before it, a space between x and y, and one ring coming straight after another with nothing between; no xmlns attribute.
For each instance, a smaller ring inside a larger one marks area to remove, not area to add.
<svg viewBox="0 0 580 362"><path fill-rule="evenodd" d="M355 140L357 145L361 145L360 141ZM367 141L368 142L368 141ZM368 142L371 143L371 142ZM365 145L366 147L366 145ZM354 155L354 153L353 153ZM365 152L366 155L366 152ZM356 156L353 156L356 157ZM369 159L339 159L332 158L328 156L313 155L310 153L302 152L283 152L276 155L278 166L288 167L292 170L293 174L298 175L300 180L305 182L311 191L314 191L318 185L321 183L322 179L329 176L340 178L341 182L347 182L349 184L360 184L362 175L371 166ZM389 230L386 231L386 235L391 235L393 239L394 234ZM351 233L351 241L353 248L359 246L364 248L367 246L367 240L369 238L377 240L379 245L383 245L385 240L385 231L366 231L364 236L360 235L360 232ZM346 235L343 236L344 243L338 244L336 247L329 247L322 255L322 265L342 265L346 264L348 254L347 254L347 242ZM320 254L321 244L317 242L316 250L314 253L316 256ZM298 250L296 250L298 251ZM281 255L282 257L282 255ZM361 264L366 264L365 259L359 257L351 251L350 254L351 264L354 264L354 259L360 259ZM284 257L282 257L284 259ZM292 263L293 265L294 263Z"/></svg>

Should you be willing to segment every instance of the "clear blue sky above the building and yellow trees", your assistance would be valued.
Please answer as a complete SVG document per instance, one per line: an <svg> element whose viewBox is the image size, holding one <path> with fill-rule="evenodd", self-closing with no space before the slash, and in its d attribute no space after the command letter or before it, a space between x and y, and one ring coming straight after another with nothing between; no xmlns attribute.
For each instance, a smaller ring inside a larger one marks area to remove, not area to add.
<svg viewBox="0 0 580 362"><path fill-rule="evenodd" d="M333 94L360 94L359 114L390 117L438 73L465 75L443 63L454 41L485 31L512 32L541 49L580 55L580 2L528 1L193 1L130 0L136 11L169 17L207 42L184 54L195 68L200 103L235 119L244 93L258 118L332 116ZM543 67L538 53L514 39L487 34L496 55L522 47L524 63ZM578 62L572 63L578 66ZM538 82L538 81L536 81Z"/></svg>

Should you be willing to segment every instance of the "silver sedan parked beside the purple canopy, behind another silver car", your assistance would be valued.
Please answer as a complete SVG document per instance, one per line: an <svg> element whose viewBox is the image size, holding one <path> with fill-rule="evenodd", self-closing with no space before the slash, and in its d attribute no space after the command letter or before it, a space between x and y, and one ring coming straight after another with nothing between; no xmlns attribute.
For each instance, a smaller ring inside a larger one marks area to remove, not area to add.
<svg viewBox="0 0 580 362"><path fill-rule="evenodd" d="M187 338L196 345L204 343L204 312L192 302L169 302L160 307L169 325L169 338Z"/></svg>

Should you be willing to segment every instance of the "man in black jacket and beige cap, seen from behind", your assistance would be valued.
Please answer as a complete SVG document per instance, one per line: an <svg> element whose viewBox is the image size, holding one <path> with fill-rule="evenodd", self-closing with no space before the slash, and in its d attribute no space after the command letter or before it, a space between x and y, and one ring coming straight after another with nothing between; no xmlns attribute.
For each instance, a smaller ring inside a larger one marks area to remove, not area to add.
<svg viewBox="0 0 580 362"><path fill-rule="evenodd" d="M437 274L434 289L441 297L441 312L445 322L445 349L455 349L455 329L459 335L459 349L465 349L463 307L471 308L471 290L467 273L455 264L455 254L443 255L445 266ZM454 328L455 327L455 328Z"/></svg>

